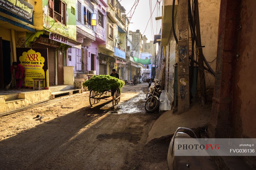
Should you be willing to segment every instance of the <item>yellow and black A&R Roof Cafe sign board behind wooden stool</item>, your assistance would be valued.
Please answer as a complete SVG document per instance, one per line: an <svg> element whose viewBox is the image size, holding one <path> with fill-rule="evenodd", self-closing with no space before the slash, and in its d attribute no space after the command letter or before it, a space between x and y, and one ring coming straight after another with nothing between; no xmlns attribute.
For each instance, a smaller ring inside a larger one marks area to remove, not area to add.
<svg viewBox="0 0 256 170"><path fill-rule="evenodd" d="M16 53L17 62L21 64L25 70L23 87L33 88L33 78L45 79L45 87L49 87L48 49L16 48Z"/></svg>

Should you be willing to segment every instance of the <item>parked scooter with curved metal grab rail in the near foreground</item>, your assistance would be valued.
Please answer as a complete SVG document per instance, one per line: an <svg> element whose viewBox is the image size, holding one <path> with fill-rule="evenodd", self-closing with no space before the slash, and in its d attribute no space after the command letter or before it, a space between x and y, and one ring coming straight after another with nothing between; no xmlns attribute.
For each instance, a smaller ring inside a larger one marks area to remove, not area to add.
<svg viewBox="0 0 256 170"><path fill-rule="evenodd" d="M197 141L197 136L195 132L189 128L179 127L175 131L172 140L170 142L167 154L167 164L169 170L181 170L181 169L207 169L207 170L216 170L216 167L210 158L210 156L174 156L174 142L177 138L188 138L191 139L187 133L179 132L180 130L187 130L193 133L195 136L195 143ZM200 145L200 143L198 142Z"/></svg>

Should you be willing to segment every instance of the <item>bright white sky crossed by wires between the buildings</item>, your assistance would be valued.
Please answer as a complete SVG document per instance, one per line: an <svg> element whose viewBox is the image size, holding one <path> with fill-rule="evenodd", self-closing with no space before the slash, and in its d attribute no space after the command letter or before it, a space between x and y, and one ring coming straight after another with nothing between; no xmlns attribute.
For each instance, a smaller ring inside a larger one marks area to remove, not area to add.
<svg viewBox="0 0 256 170"><path fill-rule="evenodd" d="M135 1L137 0L119 0L121 5L125 8L126 14L131 10ZM135 9L133 17L131 18L131 23L129 25L130 31L136 31L137 29L139 29L141 34L143 34L144 30L146 29L143 35L146 35L146 37L148 38L148 42L152 40L152 31L150 26L151 22L150 21L148 22L150 18L150 6L149 6L150 1L152 4L152 7L151 7L152 11L154 10L157 0L139 0L139 3ZM160 23L161 20L158 20L158 21L155 20L157 16L161 16L162 14L162 0L158 0L158 1L161 1L160 7L159 7L159 3L157 3L156 8L152 14L153 29L154 29L153 35L156 35L159 33L160 26L161 26L161 23ZM129 14L127 14L127 17L130 17L133 11L134 11L134 7L132 11ZM148 22L148 26L146 28L147 22Z"/></svg>

